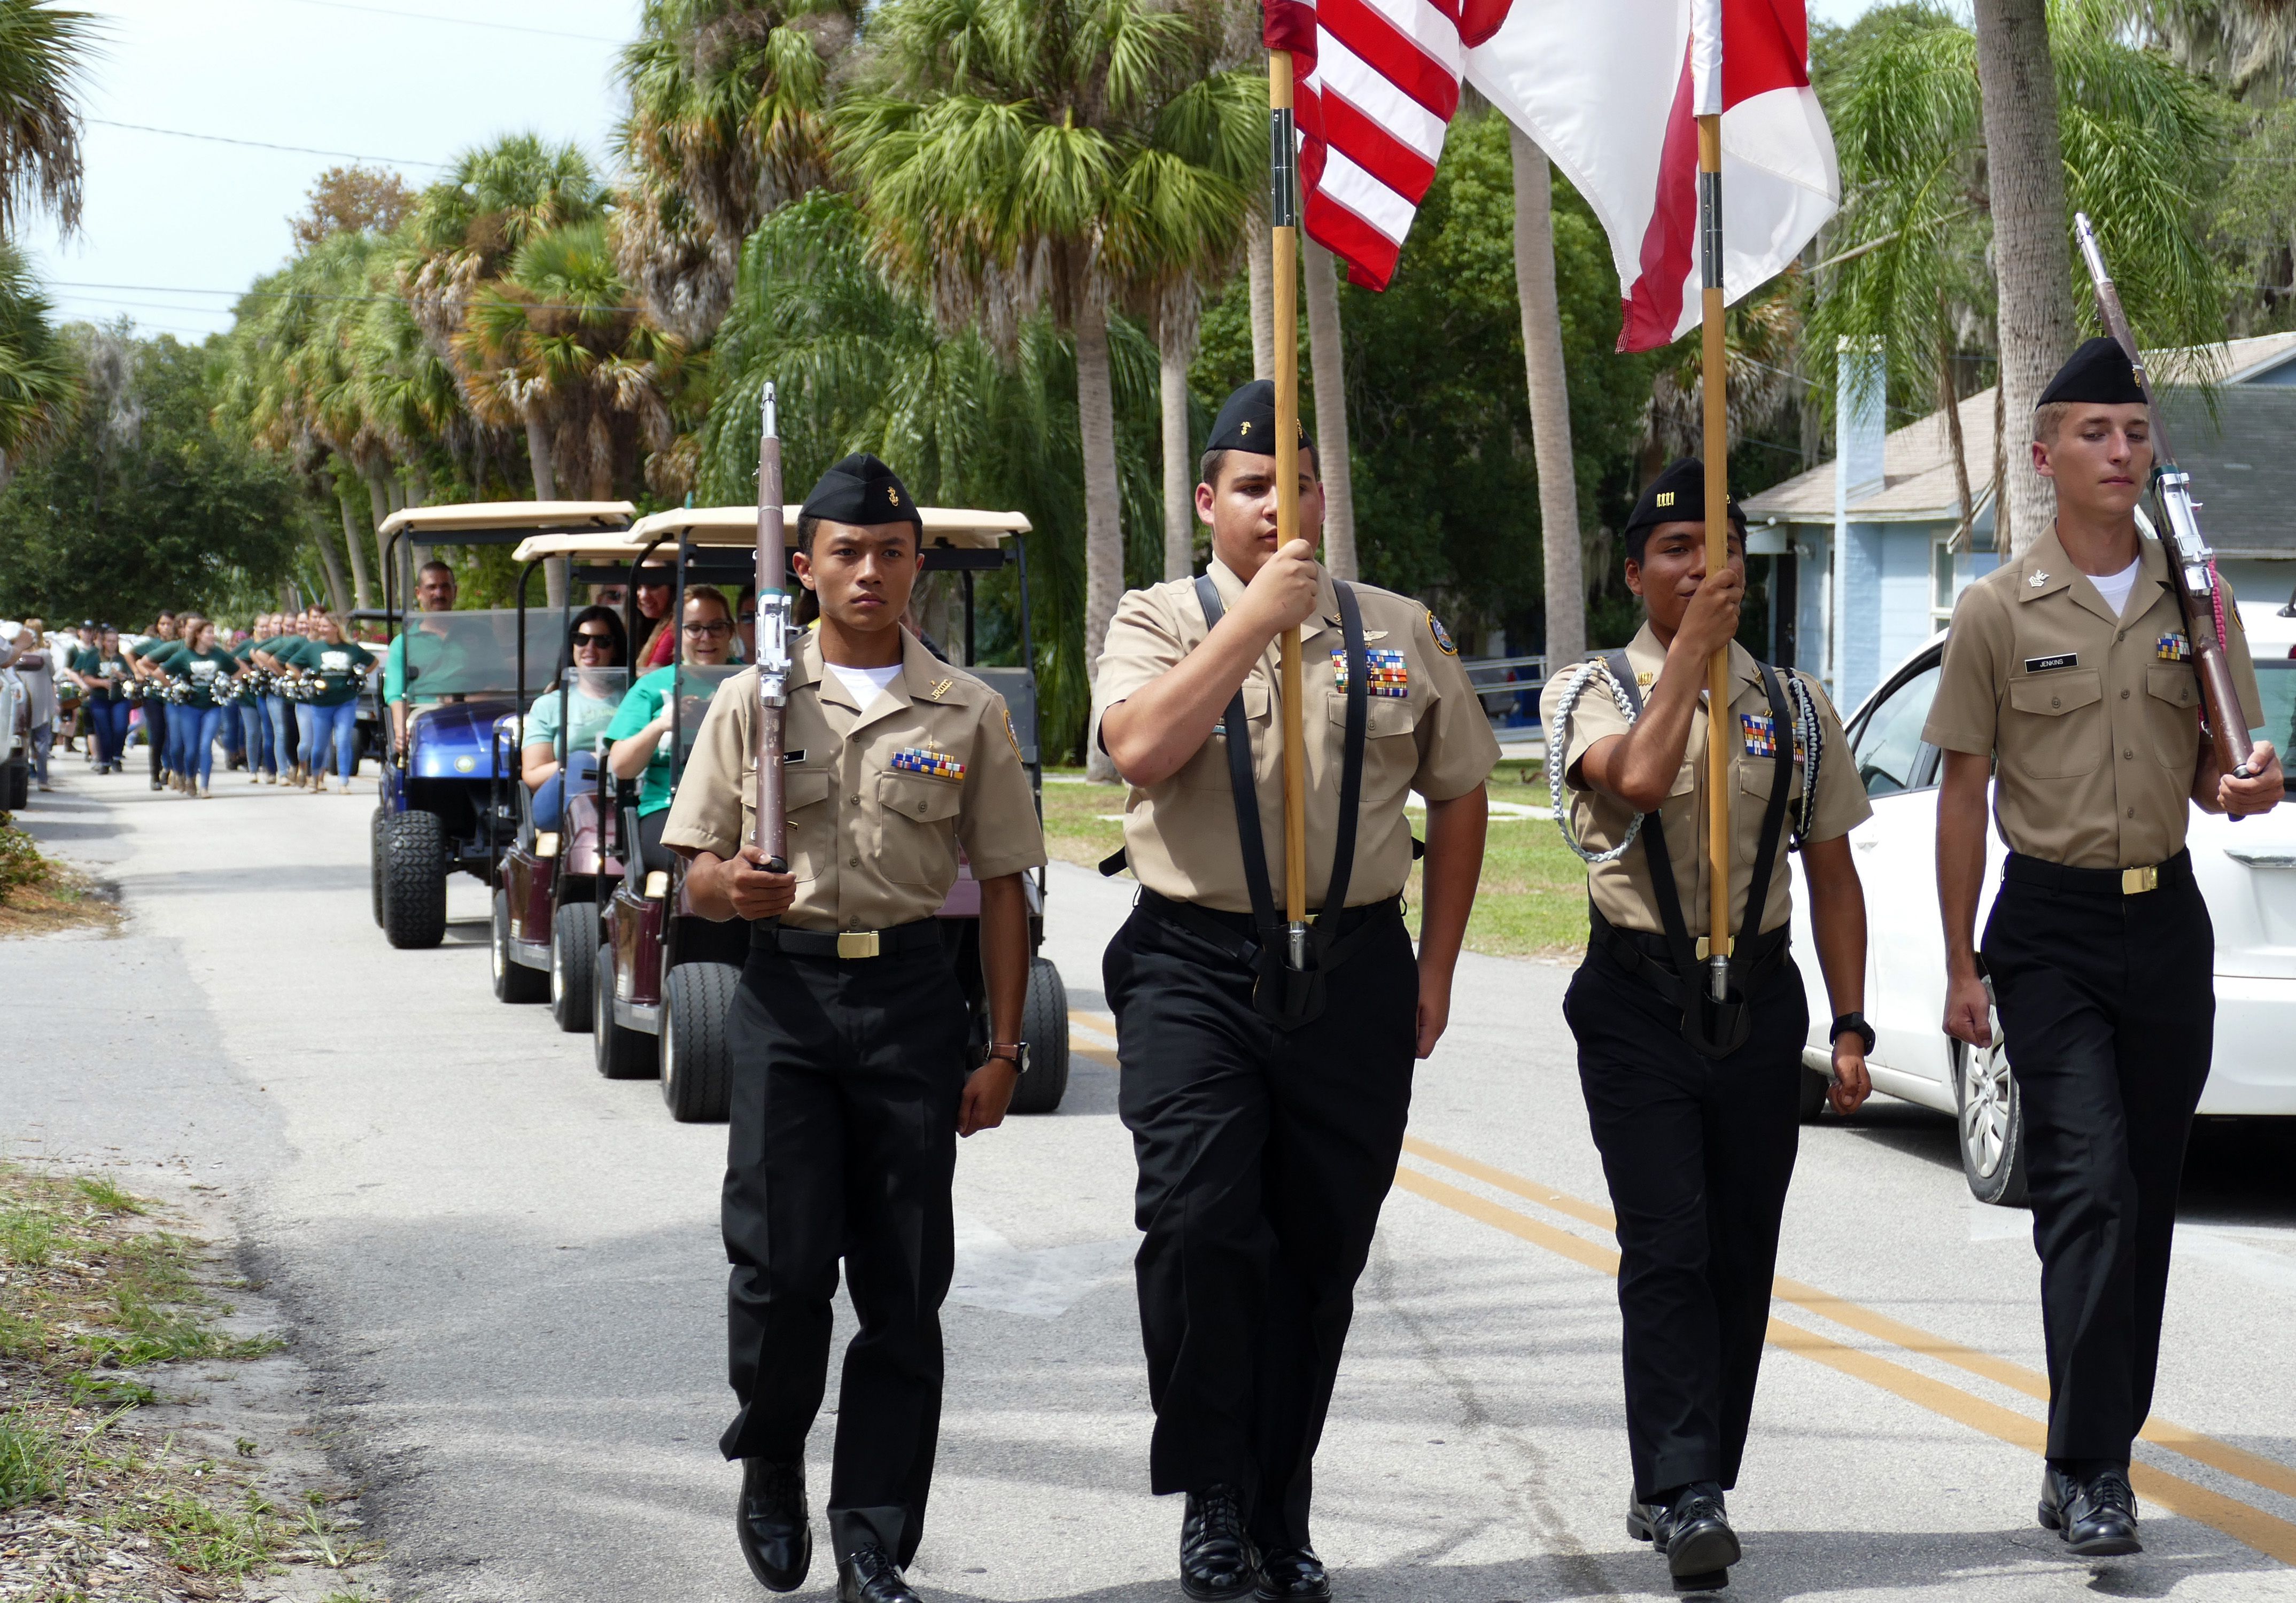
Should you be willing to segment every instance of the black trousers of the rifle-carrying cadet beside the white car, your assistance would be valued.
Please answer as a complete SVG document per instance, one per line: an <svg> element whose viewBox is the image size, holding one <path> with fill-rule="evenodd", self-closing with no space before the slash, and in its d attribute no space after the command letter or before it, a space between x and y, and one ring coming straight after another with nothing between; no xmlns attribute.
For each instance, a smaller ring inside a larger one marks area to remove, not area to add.
<svg viewBox="0 0 2296 1603"><path fill-rule="evenodd" d="M2216 928L2179 864L2140 896L2011 877L1986 919L2025 1107L2050 1458L2126 1461L2151 1412L2183 1144L2216 1036Z"/></svg>

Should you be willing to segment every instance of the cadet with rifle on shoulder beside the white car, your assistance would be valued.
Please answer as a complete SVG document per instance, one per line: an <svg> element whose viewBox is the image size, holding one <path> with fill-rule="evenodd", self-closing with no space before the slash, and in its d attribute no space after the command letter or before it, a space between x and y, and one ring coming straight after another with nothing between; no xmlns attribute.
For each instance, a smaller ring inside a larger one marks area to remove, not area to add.
<svg viewBox="0 0 2296 1603"><path fill-rule="evenodd" d="M2089 340L2041 390L2032 459L2057 485L2057 526L1961 595L1922 737L1945 751L1945 1029L1991 1043L1991 976L2025 1112L2048 1330L2041 1525L2094 1557L2142 1550L2128 1445L2151 1412L2183 1144L2209 1082L2216 932L2188 806L2264 813L2282 779L2271 744L2236 779L2202 737L2167 553L2138 535L2151 427L2119 344ZM2257 726L2229 590L2223 629ZM1979 967L1988 779L2009 859Z"/></svg>

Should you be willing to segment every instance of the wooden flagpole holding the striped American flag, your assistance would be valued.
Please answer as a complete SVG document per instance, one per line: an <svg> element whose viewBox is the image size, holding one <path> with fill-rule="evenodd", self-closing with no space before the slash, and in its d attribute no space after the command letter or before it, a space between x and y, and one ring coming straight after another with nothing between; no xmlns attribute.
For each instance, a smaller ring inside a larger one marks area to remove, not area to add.
<svg viewBox="0 0 2296 1603"><path fill-rule="evenodd" d="M1277 549L1300 537L1300 142L1293 138L1290 51L1267 53L1267 225L1277 344ZM1306 726L1300 719L1300 627L1277 655L1283 705L1283 955L1306 967Z"/></svg>

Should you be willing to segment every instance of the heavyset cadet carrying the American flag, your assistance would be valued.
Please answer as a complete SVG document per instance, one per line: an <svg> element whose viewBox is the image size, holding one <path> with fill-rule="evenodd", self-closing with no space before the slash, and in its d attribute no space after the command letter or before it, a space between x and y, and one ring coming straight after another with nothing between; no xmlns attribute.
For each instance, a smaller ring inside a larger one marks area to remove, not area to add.
<svg viewBox="0 0 2296 1603"><path fill-rule="evenodd" d="M1499 758L1428 609L1316 563L1322 491L1304 432L1290 471L1309 537L1277 549L1272 434L1272 384L1228 397L1196 485L1212 567L1125 595L1093 687L1093 737L1132 785L1125 852L1141 882L1104 983L1139 1157L1150 1484L1187 1493L1192 1598L1332 1594L1309 1543L1311 1463L1412 1059L1449 1020ZM1306 675L1306 907L1325 909L1313 983L1283 971L1277 636L1290 625ZM1412 790L1428 802L1417 960L1401 907Z"/></svg>

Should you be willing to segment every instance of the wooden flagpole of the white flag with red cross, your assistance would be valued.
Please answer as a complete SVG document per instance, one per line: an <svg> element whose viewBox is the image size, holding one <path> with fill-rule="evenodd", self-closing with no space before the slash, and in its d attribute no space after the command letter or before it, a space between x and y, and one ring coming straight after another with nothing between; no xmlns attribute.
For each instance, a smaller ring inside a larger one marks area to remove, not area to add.
<svg viewBox="0 0 2296 1603"><path fill-rule="evenodd" d="M1720 62L1715 62L1720 73ZM1722 349L1722 117L1699 117L1699 379L1706 400L1706 574L1729 563L1729 372ZM1706 990L1729 994L1729 641L1706 664ZM1777 733L1786 739L1786 730Z"/></svg>

